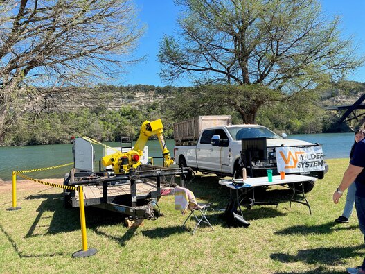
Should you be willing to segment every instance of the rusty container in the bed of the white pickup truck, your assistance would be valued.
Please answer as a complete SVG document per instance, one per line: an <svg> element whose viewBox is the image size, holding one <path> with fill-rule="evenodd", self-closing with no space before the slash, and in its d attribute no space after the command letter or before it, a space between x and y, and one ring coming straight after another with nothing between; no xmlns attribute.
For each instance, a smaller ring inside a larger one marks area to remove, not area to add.
<svg viewBox="0 0 365 274"><path fill-rule="evenodd" d="M174 123L174 139L177 145L184 142L196 142L199 134L205 128L213 126L229 126L232 123L231 115L198 116L193 119Z"/></svg>

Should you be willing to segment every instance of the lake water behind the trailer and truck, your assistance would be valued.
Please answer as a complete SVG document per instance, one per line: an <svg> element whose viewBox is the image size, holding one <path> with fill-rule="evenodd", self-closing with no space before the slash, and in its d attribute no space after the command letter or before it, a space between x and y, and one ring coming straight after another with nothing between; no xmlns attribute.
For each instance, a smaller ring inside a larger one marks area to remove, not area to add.
<svg viewBox="0 0 365 274"><path fill-rule="evenodd" d="M322 144L326 159L347 158L354 142L354 133L321 133L308 135L289 135L290 139L301 139L312 143ZM119 143L107 143L108 146L118 147ZM148 141L148 155L161 157L161 148L157 140ZM173 156L174 140L166 140L166 145ZM99 160L103 147L94 145L95 158ZM71 144L57 144L47 146L11 146L0 147L0 178L11 180L12 171L40 169L48 166L58 166L73 162ZM162 160L155 159L155 165L162 165ZM29 173L32 178L62 178L72 166L49 171ZM20 179L20 178L19 178Z"/></svg>

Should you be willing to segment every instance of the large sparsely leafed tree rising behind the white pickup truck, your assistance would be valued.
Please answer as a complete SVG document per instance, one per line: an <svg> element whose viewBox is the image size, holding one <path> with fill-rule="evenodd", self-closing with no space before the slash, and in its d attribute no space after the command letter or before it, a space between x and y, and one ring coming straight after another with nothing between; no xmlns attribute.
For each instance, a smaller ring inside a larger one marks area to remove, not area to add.
<svg viewBox="0 0 365 274"><path fill-rule="evenodd" d="M290 96L342 78L363 62L351 40L341 39L339 18L326 19L317 0L175 2L184 8L179 30L163 38L158 55L160 75L169 82L191 77L199 84L262 85ZM249 103L256 101L234 107ZM260 105L247 106L251 113L235 109L253 123Z"/></svg>

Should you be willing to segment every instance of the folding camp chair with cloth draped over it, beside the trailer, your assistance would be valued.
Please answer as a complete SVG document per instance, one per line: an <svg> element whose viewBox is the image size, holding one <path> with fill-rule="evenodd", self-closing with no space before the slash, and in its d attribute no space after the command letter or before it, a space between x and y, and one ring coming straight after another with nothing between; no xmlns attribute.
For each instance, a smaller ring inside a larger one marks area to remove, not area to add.
<svg viewBox="0 0 365 274"><path fill-rule="evenodd" d="M212 228L212 230L214 230L211 223L208 221L208 219L206 219L206 212L208 211L208 208L211 207L211 205L206 203L197 203L193 192L184 187L177 186L172 192L175 195L175 209L180 210L182 214L186 214L186 212L190 210L190 214L182 225L184 230L186 230L186 223L192 215L195 217L195 221L197 221L195 227L193 228L192 234L195 233L195 230L197 230L197 227L200 225L200 223L206 223Z"/></svg>

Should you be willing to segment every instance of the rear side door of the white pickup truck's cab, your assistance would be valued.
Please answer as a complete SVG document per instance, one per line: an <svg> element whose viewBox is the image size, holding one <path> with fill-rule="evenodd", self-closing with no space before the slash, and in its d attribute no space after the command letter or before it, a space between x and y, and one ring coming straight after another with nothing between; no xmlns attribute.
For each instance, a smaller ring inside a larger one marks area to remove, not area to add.
<svg viewBox="0 0 365 274"><path fill-rule="evenodd" d="M211 144L211 139L214 134L215 130L204 130L202 132L199 144L197 144L197 166L199 169L216 170L213 162L216 161L215 158L219 157L219 155L215 155L217 149L214 149Z"/></svg>

